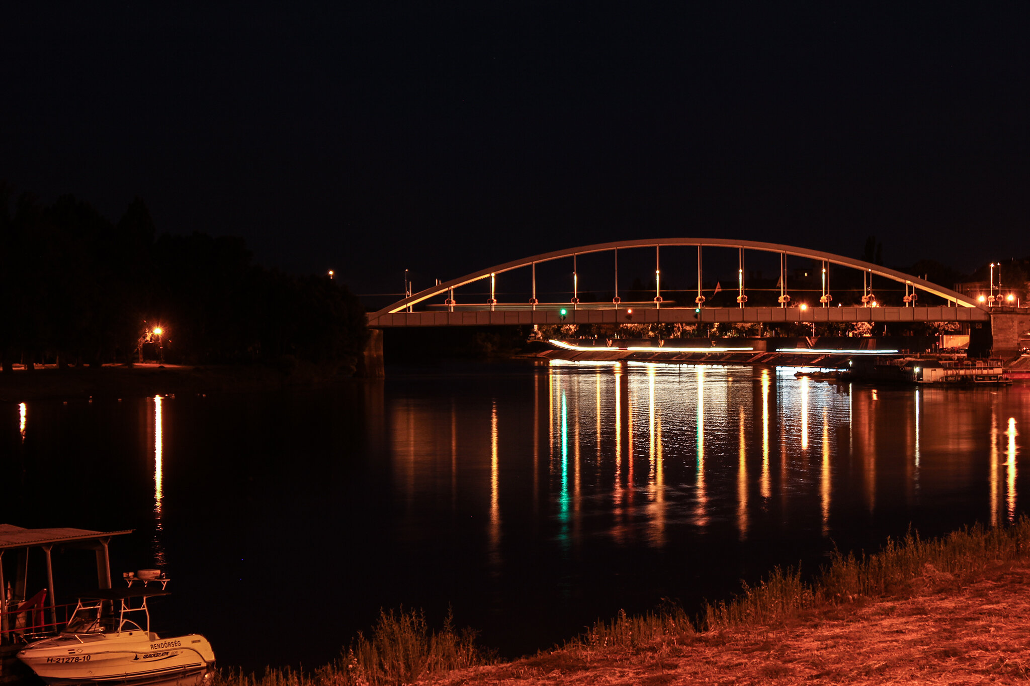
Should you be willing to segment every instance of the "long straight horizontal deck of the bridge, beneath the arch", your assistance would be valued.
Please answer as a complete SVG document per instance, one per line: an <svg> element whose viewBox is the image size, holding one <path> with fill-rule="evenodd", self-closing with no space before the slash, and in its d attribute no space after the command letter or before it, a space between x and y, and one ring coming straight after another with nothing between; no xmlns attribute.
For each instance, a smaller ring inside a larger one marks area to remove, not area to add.
<svg viewBox="0 0 1030 686"><path fill-rule="evenodd" d="M524 305L523 305L524 306ZM372 328L397 326L484 326L505 324L695 324L700 322L769 323L797 322L988 322L991 315L980 308L702 308L695 318L693 308L626 308L574 310L571 304L538 304L536 310L490 311L466 306L460 312L399 312L369 317ZM565 319L560 311L564 308ZM582 308L582 305L581 305Z"/></svg>

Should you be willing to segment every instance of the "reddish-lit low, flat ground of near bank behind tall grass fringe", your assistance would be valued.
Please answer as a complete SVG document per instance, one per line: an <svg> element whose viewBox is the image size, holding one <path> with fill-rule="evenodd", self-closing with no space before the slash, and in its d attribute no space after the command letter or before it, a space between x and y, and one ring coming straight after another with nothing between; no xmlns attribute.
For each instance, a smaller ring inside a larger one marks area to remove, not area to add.
<svg viewBox="0 0 1030 686"><path fill-rule="evenodd" d="M974 580L932 568L881 599L784 625L638 649L571 650L454 672L458 684L978 684L1030 681L1030 566Z"/></svg>

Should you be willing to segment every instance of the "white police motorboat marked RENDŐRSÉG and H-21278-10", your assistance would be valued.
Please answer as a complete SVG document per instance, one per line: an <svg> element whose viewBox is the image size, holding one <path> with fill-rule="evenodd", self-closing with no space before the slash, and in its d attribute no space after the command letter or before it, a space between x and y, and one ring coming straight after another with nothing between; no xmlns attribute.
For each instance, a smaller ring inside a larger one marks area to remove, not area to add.
<svg viewBox="0 0 1030 686"><path fill-rule="evenodd" d="M133 579L135 580L135 579ZM56 637L35 641L18 658L47 684L89 683L206 684L213 676L214 652L203 636L159 637L150 630L147 598L167 595L167 580L153 586L107 588L81 598L67 626ZM134 603L138 606L133 607ZM115 609L115 605L121 606ZM145 618L144 626L129 619Z"/></svg>

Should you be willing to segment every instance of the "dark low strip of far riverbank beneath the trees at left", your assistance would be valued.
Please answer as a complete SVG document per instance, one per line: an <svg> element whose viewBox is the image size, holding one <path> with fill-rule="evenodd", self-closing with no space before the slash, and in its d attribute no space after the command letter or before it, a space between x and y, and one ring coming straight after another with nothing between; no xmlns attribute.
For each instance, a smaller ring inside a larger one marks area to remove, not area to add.
<svg viewBox="0 0 1030 686"><path fill-rule="evenodd" d="M154 394L249 393L342 383L353 367L318 366L291 361L265 365L174 365L143 363L99 368L15 367L0 373L0 402L88 397L145 397Z"/></svg>

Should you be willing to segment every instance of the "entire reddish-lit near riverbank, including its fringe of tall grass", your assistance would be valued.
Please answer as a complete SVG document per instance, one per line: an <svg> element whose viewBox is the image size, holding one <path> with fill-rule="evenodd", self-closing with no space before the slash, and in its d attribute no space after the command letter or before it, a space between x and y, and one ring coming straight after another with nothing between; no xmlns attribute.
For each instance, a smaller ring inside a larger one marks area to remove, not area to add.
<svg viewBox="0 0 1030 686"><path fill-rule="evenodd" d="M790 683L1030 678L1030 518L924 540L909 532L873 554L834 553L815 580L776 568L691 616L665 603L620 612L551 650L499 662L448 614L381 611L367 638L313 672L221 670L213 686L393 684ZM854 664L849 664L854 662Z"/></svg>

